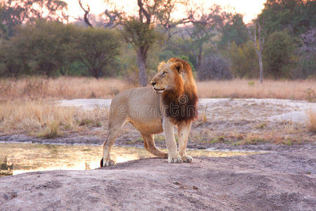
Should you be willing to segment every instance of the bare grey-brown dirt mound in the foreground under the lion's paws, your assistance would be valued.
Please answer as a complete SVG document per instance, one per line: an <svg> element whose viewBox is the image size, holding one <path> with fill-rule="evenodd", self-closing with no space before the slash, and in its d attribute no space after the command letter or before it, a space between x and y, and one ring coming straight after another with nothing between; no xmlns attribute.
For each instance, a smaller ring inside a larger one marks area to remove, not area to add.
<svg viewBox="0 0 316 211"><path fill-rule="evenodd" d="M0 178L0 210L313 210L315 147Z"/></svg>

